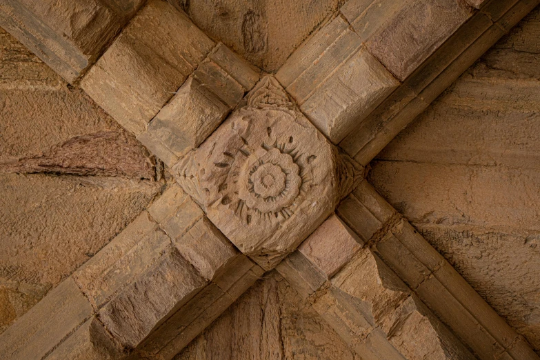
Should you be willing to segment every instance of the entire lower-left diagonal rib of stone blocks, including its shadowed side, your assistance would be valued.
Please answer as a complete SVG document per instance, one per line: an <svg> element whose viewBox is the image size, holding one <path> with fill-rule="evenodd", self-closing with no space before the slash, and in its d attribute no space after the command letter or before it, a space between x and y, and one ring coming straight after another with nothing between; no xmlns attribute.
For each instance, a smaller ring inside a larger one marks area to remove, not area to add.
<svg viewBox="0 0 540 360"><path fill-rule="evenodd" d="M0 335L2 359L170 359L263 270L179 186Z"/></svg>

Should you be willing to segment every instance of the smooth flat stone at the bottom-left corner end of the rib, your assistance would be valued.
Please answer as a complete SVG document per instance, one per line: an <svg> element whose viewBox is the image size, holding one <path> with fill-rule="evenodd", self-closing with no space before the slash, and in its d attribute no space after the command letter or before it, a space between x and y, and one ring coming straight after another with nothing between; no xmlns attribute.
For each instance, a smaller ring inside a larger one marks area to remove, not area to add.
<svg viewBox="0 0 540 360"><path fill-rule="evenodd" d="M92 306L68 278L0 335L0 356L6 360L43 359L90 315Z"/></svg>

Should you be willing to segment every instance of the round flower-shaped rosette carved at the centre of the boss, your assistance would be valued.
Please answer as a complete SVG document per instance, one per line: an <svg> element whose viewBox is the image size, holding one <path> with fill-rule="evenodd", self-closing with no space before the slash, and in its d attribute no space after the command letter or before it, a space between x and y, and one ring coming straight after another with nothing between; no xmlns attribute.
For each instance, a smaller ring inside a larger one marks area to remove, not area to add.
<svg viewBox="0 0 540 360"><path fill-rule="evenodd" d="M241 170L238 196L252 210L279 212L292 205L301 185L300 168L290 154L261 148Z"/></svg>

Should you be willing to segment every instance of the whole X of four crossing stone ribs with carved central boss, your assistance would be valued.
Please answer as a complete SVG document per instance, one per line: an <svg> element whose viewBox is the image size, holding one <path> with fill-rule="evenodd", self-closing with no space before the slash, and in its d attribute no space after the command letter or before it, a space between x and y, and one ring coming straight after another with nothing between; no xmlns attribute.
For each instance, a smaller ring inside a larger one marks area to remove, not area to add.
<svg viewBox="0 0 540 360"><path fill-rule="evenodd" d="M21 2L1 5L1 21L12 21L6 14L23 14ZM43 3L42 16L49 13L49 2ZM266 77L244 97L259 80L257 71L223 45L216 46L182 12L163 1L148 1L81 86L172 165L183 190L172 186L88 266L4 332L0 353L7 359L19 354L74 359L123 357L131 351L135 357L171 359L251 286L262 268L277 266L292 252L278 266L283 276L363 357L386 352L408 359L470 359L442 321L482 359L494 354L537 359L526 341L388 204L362 194L366 181L343 201L338 214L367 247L356 246L354 241L363 243L334 216L327 227L339 228L330 232L340 237L344 254L325 257L333 252L323 251L324 228L295 249L356 187L355 177L363 175L361 165L342 157L326 137L367 165L414 114L539 2L472 1L480 8L473 11L452 0L386 1L382 8L380 0L361 6L350 0L277 72L281 84ZM92 11L107 11L97 0L88 4L97 6ZM140 2L131 4L136 9ZM62 2L59 10L79 10L79 2L72 5ZM108 9L119 7L113 3ZM392 15L377 21L380 9ZM418 18L423 12L434 16ZM16 35L25 37L28 28L39 39L58 38L57 28L41 28L36 15L24 14L18 24L6 22ZM65 19L57 18L63 29ZM375 25L366 31L362 23ZM85 24L75 22L80 28L66 32L68 40L59 40L60 45L34 46L69 79L76 79L101 52L101 44L79 37L78 31L92 34ZM106 33L112 39L116 30ZM409 46L408 39L414 39ZM88 49L96 54L81 58L79 52ZM74 65L66 66L57 52L70 54ZM183 108L190 111L181 114ZM383 114L384 122L375 121L373 114ZM180 115L187 123L179 122ZM366 128L354 132L356 126ZM359 212L347 216L346 206ZM386 244L405 247L414 257L406 260L421 276L400 272L401 257L391 257L392 246L388 253L381 250ZM443 294L447 302L434 294ZM53 309L53 303L64 308ZM413 329L426 334L419 346L410 345L418 340L410 339Z"/></svg>

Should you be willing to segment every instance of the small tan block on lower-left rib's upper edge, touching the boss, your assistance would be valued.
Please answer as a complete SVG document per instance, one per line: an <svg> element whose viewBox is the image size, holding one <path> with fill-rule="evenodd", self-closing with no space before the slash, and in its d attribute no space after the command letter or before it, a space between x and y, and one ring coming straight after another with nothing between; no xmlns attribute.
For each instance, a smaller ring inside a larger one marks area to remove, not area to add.
<svg viewBox="0 0 540 360"><path fill-rule="evenodd" d="M177 184L163 192L148 212L173 240L186 234L204 216L203 210Z"/></svg>

